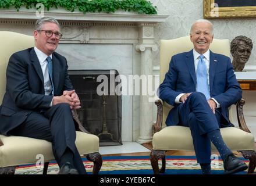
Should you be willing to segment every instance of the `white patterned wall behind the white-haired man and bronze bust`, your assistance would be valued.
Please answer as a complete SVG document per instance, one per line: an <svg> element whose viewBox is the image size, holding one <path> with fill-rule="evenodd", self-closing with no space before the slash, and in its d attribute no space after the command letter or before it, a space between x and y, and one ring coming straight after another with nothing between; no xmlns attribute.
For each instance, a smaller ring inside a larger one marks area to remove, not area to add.
<svg viewBox="0 0 256 186"><path fill-rule="evenodd" d="M157 6L159 15L170 15L165 23L155 27L155 42L189 35L190 27L197 19L203 19L202 0L150 0ZM253 51L246 65L256 65L256 34L254 18L211 19L214 24L214 37L232 41L238 35L245 35L253 40ZM159 50L155 52L154 65L159 65Z"/></svg>

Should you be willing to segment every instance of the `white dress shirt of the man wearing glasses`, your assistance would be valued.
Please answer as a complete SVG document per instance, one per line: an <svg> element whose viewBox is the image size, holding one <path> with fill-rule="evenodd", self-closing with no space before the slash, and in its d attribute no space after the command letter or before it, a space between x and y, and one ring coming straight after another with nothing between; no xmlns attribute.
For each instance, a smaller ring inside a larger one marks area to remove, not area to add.
<svg viewBox="0 0 256 186"><path fill-rule="evenodd" d="M44 52L40 51L37 47L34 47L35 50L35 54L37 55L37 58L40 62L41 68L42 68L42 76L44 76L44 94L45 95L49 95L52 91L52 85L51 85L51 81L49 78L49 71L47 68L47 57L48 55L46 55ZM52 59L52 55L49 55ZM52 99L53 100L53 99ZM52 101L50 106L52 106Z"/></svg>

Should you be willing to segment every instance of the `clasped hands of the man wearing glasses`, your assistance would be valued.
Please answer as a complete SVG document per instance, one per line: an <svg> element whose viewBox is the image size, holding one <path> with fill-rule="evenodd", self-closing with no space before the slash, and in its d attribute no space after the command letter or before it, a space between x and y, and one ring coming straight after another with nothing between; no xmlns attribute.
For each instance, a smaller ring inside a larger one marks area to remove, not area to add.
<svg viewBox="0 0 256 186"><path fill-rule="evenodd" d="M80 99L74 90L63 91L63 94L61 96L54 96L52 105L57 105L58 103L68 103L70 106L70 109L81 108Z"/></svg>

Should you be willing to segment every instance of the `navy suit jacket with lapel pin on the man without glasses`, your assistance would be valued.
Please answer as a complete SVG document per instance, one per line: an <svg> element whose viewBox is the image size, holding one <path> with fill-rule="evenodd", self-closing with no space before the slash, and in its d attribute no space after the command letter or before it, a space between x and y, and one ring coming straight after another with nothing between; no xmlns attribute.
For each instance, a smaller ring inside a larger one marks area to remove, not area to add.
<svg viewBox="0 0 256 186"><path fill-rule="evenodd" d="M172 56L168 73L159 87L159 98L173 105L166 119L167 126L179 124L179 113L175 98L181 93L196 91L196 75L193 50ZM230 124L228 108L239 101L242 90L237 82L230 58L210 51L209 87L212 98L221 104L218 111ZM184 116L186 117L186 116Z"/></svg>

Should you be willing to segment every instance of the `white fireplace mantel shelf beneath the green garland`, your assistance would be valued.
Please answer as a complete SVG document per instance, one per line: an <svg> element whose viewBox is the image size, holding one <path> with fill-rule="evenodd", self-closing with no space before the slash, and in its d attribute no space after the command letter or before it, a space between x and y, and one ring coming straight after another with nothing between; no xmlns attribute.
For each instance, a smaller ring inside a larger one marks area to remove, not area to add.
<svg viewBox="0 0 256 186"><path fill-rule="evenodd" d="M1 10L0 19L15 20L36 20L35 9L21 8L19 12L16 10ZM44 16L55 17L57 20L83 21L83 22L126 22L126 23L159 23L165 22L168 15L145 15L134 12L125 12L118 10L115 13L82 13L79 11L66 12L66 10L51 9L44 12Z"/></svg>

